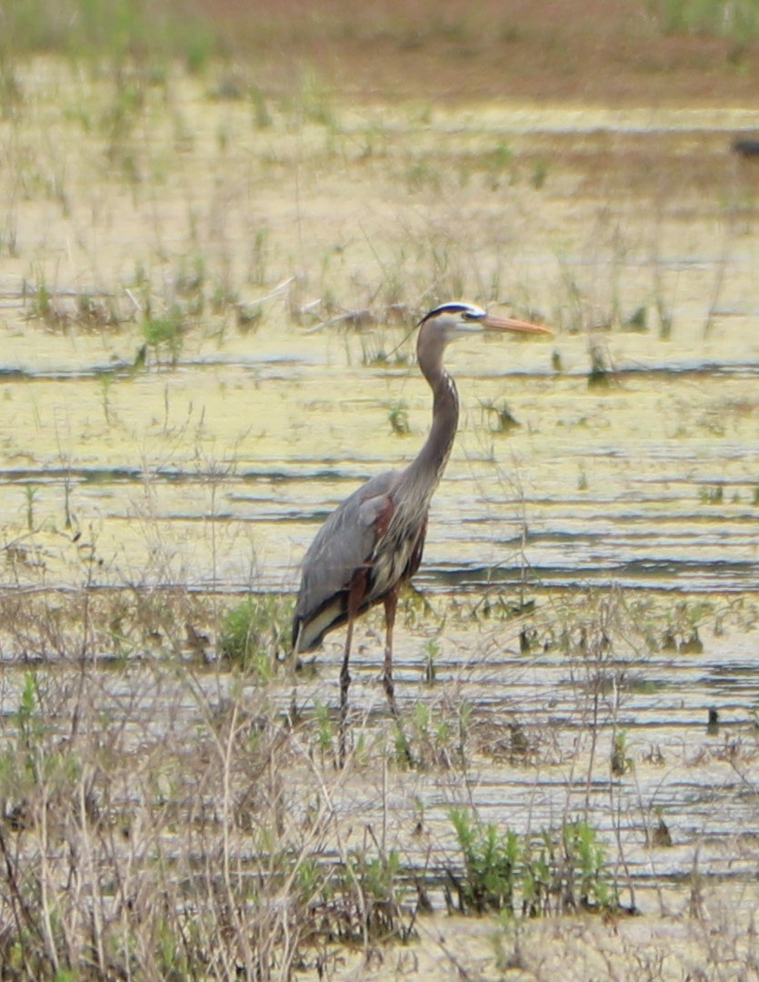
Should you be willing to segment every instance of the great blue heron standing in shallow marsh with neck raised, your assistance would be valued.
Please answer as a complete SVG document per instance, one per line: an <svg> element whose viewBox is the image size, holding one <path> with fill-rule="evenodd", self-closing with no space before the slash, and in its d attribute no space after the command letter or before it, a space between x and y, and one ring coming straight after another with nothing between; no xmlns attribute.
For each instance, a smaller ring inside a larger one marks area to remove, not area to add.
<svg viewBox="0 0 759 982"><path fill-rule="evenodd" d="M392 631L398 590L419 569L430 500L448 463L459 419L456 385L443 366L451 341L483 331L550 334L546 327L496 317L471 303L443 303L419 322L417 356L433 394L427 442L403 470L371 478L322 525L303 560L292 623L293 654L318 648L330 630L347 624L340 672L340 757L344 755L350 647L356 618L384 604L382 682L397 718L392 682Z"/></svg>

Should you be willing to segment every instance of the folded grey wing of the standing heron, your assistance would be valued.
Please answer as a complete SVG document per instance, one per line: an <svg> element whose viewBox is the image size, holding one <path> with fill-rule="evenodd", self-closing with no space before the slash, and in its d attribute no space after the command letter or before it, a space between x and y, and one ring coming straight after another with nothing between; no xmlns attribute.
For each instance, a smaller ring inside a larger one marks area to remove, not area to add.
<svg viewBox="0 0 759 982"><path fill-rule="evenodd" d="M378 519L391 507L388 496L397 479L397 471L388 471L367 481L329 515L317 533L303 560L295 608L293 642L302 632L298 650L309 650L321 641L331 624L326 612L313 629L303 631L303 626L325 611L332 598L345 593L354 573L371 560L378 539Z"/></svg>

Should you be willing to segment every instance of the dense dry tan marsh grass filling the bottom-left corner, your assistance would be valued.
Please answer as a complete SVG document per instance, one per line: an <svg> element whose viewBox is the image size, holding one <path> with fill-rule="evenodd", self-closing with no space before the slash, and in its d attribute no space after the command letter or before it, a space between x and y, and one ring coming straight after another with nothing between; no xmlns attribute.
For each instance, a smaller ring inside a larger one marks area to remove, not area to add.
<svg viewBox="0 0 759 982"><path fill-rule="evenodd" d="M115 624L90 611L104 616ZM318 770L316 796L282 780L313 770L310 736L264 689L222 694L164 659L97 671L88 655L72 660L71 638L66 648L56 673L38 651L3 691L6 969L287 978L336 944L411 936L397 852L370 835L318 860L336 832L329 785Z"/></svg>

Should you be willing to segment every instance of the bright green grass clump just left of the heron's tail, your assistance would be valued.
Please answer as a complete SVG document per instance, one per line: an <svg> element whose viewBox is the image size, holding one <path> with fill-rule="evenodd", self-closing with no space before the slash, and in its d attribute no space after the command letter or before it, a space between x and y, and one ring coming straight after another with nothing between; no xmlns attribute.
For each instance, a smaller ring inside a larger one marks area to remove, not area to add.
<svg viewBox="0 0 759 982"><path fill-rule="evenodd" d="M230 607L219 632L219 654L263 681L274 675L278 653L288 650L292 602L276 594L251 594Z"/></svg>

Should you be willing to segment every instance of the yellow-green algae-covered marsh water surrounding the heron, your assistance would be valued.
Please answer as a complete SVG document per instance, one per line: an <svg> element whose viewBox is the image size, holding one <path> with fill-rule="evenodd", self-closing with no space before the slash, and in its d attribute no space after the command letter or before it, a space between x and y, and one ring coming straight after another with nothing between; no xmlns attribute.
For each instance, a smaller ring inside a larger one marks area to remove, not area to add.
<svg viewBox="0 0 759 982"><path fill-rule="evenodd" d="M25 86L29 112L0 123L7 744L30 666L57 693L56 736L78 679L86 726L107 718L133 756L113 794L98 772L99 806L147 808L159 757L167 787L189 758L177 808L196 817L216 714L284 734L294 713L275 824L291 835L324 795L320 862L368 829L397 849L435 909L416 955L386 953L398 973L411 957L498 977L486 939L462 948L442 914L461 873L449 810L466 805L519 835L587 821L624 904L661 918L646 936L650 964L671 948L661 977L712 964L686 919L707 913L733 946L714 977L749 977L759 166L729 148L759 114L361 110L312 92L264 126L249 102L177 78L140 89L117 128L110 82L40 62ZM454 297L507 302L556 334L449 350L460 432L396 635L417 766L394 756L372 615L338 776L315 721L337 705L341 635L294 683L281 667L241 675L215 641L240 597L296 588L359 481L414 456L430 394L409 332ZM252 869L249 831L229 847ZM614 942L625 957L639 925Z"/></svg>

